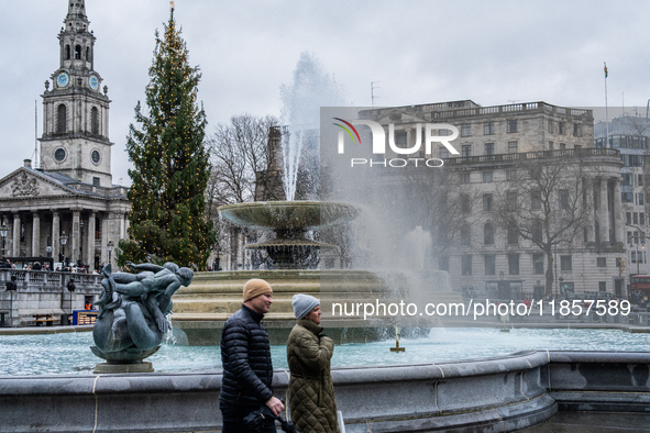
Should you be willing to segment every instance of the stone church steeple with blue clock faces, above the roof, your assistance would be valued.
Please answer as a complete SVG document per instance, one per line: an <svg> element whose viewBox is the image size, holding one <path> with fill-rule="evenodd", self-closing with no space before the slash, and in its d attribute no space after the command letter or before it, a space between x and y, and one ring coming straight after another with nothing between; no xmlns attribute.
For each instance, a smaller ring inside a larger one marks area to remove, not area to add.
<svg viewBox="0 0 650 433"><path fill-rule="evenodd" d="M110 187L108 87L95 70L96 37L88 30L85 0L68 0L58 33L59 67L45 81L40 163L77 181Z"/></svg>

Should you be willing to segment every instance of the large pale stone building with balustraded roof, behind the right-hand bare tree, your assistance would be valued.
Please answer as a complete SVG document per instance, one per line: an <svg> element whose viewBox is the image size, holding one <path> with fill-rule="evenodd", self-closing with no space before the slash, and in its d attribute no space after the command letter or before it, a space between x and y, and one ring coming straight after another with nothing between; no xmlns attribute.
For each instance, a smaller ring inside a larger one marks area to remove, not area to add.
<svg viewBox="0 0 650 433"><path fill-rule="evenodd" d="M594 146L591 110L546 102L481 107L464 100L365 110L360 119L378 122L386 131L394 124L395 144L403 147L415 144L418 123L458 129L453 145L460 154L450 154L441 145L432 156L444 160L448 175L464 191L456 197L461 206L453 216L461 224L448 245L434 236L438 241L428 263L431 269L448 270L453 288L540 299L549 291L547 270L552 262L557 296L598 290L627 295L620 268L627 241L621 211L624 164L618 149ZM445 134L441 130L438 135ZM398 156L386 154L387 159ZM423 146L418 156L425 156ZM530 173L549 167L562 168L558 187L531 188ZM550 216L557 219L552 224L559 226L571 215L574 221L569 231L550 231L561 238L546 252L535 242L539 236L548 243L547 232L542 234L543 199L549 212L559 215ZM510 230L513 223L504 225L511 213L504 213L508 206L517 208L513 212L526 211L519 212L519 230ZM528 237L524 218L535 219ZM431 221L431 233L443 223Z"/></svg>

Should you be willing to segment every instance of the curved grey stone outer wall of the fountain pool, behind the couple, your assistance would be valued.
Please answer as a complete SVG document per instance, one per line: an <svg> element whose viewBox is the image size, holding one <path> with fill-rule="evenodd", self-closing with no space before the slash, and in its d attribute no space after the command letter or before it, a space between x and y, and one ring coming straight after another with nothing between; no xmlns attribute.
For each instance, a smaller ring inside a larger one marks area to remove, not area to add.
<svg viewBox="0 0 650 433"><path fill-rule="evenodd" d="M637 378L649 368L648 353L543 351L338 368L332 379L349 433L510 432L559 410L643 412L650 386ZM220 371L2 377L2 431L217 431L221 380ZM285 398L287 385L277 370L276 396Z"/></svg>

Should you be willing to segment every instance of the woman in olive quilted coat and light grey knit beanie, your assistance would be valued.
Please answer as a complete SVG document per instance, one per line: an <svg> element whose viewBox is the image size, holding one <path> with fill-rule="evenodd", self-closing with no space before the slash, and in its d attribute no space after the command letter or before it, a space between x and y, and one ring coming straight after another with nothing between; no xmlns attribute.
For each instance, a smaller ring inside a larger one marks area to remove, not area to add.
<svg viewBox="0 0 650 433"><path fill-rule="evenodd" d="M330 374L334 342L319 326L320 301L298 293L293 306L298 323L287 343L291 420L300 433L340 433Z"/></svg>

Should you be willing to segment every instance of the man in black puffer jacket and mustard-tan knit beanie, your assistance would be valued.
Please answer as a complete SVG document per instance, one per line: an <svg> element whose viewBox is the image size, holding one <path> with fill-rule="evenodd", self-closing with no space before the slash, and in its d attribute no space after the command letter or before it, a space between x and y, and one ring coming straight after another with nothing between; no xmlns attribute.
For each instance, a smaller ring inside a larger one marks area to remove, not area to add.
<svg viewBox="0 0 650 433"><path fill-rule="evenodd" d="M273 397L273 364L268 334L261 321L273 303L273 289L263 279L244 285L244 304L225 321L221 332L223 382L219 407L223 415L222 433L244 433L243 419L266 404L276 415L283 402ZM263 433L275 433L269 420Z"/></svg>

